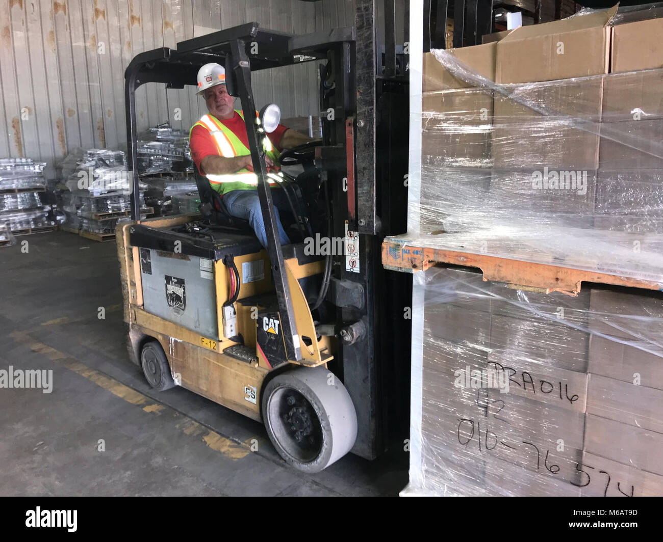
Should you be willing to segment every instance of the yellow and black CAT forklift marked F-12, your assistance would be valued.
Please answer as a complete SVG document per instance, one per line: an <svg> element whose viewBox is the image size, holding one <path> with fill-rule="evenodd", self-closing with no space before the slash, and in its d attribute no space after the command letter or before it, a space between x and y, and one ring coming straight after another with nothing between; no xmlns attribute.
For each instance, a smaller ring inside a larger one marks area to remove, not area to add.
<svg viewBox="0 0 663 542"><path fill-rule="evenodd" d="M405 229L408 111L390 93L406 102L407 78L395 54L389 82L376 78L375 62L355 58L363 39L377 58L375 5L359 3L373 11L358 30L293 36L247 23L143 52L125 72L132 220L118 225L117 247L129 356L155 390L182 386L263 422L276 451L303 472L349 452L375 459L393 434L388 419L392 429L408 425L409 322L385 315L402 315L411 278L387 277L380 251L385 235ZM260 54L251 53L256 43ZM267 172L263 142L278 107L244 115L267 250L197 170L200 214L141 220L135 91L149 82L196 85L209 62L225 67L227 91L243 111L256 109L253 72L319 63L322 140L280 156L302 173ZM371 149L360 158L362 146ZM385 180L381 190L376 176ZM292 244L279 243L270 179L290 200ZM381 223L379 203L391 227ZM341 239L344 253L308 253L316 234Z"/></svg>

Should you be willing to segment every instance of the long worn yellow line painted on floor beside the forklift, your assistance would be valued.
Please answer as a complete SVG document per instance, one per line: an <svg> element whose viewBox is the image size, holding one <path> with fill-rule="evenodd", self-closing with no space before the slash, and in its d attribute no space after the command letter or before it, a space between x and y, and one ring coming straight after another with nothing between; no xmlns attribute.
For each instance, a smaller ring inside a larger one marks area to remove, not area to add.
<svg viewBox="0 0 663 542"><path fill-rule="evenodd" d="M64 360L64 366L70 371L87 378L90 382L97 384L97 386L104 390L108 390L111 394L126 402L131 403L132 405L145 405L143 407L145 412L160 414L164 409L168 408L165 405L154 404L154 400L148 396L145 396L136 390L132 390L129 386L125 386L114 378L101 374L101 372L82 364L80 361L72 358L72 356L49 347L44 343L35 341L25 331L14 331L9 336L19 343L27 345L33 352L38 352L52 361ZM174 417L179 417L180 414L178 412L172 409L171 411L174 414ZM176 424L176 427L182 429L186 435L202 437L202 441L204 441L204 443L206 443L211 449L222 453L225 457L232 459L233 461L242 459L251 453L250 440L247 443L237 444L188 417L184 423Z"/></svg>

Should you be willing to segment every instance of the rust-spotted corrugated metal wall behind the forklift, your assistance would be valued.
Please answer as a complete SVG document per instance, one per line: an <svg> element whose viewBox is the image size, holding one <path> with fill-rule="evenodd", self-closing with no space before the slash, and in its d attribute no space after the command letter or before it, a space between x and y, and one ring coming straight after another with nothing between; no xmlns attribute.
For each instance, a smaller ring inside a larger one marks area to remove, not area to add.
<svg viewBox="0 0 663 542"><path fill-rule="evenodd" d="M125 148L124 70L139 52L249 21L297 34L354 25L353 0L0 0L0 157L54 164L75 147ZM318 113L312 64L258 73L258 106ZM137 91L139 130L188 129L206 112L194 87Z"/></svg>

